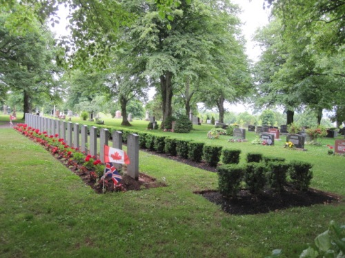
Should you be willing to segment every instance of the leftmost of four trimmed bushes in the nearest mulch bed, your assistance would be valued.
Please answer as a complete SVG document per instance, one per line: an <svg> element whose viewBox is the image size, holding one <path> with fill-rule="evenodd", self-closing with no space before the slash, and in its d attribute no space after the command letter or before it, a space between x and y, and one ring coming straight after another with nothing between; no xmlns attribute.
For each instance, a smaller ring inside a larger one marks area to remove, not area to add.
<svg viewBox="0 0 345 258"><path fill-rule="evenodd" d="M227 197L236 197L244 174L244 168L235 164L218 166L219 193Z"/></svg>

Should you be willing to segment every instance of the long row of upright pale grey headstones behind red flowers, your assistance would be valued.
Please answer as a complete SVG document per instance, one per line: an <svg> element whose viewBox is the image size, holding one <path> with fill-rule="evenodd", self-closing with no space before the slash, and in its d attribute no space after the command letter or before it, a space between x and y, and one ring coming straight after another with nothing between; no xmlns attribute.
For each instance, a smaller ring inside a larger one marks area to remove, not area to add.
<svg viewBox="0 0 345 258"><path fill-rule="evenodd" d="M108 129L100 129L99 140L97 138L97 127L90 127L90 135L88 135L88 126L79 125L78 123L66 122L64 120L57 120L36 116L33 114L25 114L25 123L28 127L39 129L39 131L46 131L50 136L62 138L70 147L74 147L86 154L95 155L99 157L101 162L104 162L104 145L109 143ZM89 142L89 144L88 144ZM112 132L112 147L122 149L122 132ZM139 178L139 136L135 133L127 136L127 154L130 159L130 164L127 165L127 175L138 180ZM115 164L119 169L121 165Z"/></svg>

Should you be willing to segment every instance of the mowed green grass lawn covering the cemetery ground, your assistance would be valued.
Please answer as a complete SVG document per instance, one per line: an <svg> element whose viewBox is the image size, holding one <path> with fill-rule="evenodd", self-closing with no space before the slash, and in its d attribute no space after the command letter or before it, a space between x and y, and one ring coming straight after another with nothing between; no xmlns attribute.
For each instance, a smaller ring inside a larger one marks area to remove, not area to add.
<svg viewBox="0 0 345 258"><path fill-rule="evenodd" d="M148 122L141 123L145 129ZM307 160L314 188L345 193L345 157L327 155L326 147L288 151L284 140L274 147L206 140L208 127L167 135L242 149L241 162L248 152ZM141 172L168 187L97 195L41 146L0 129L0 257L265 257L275 248L298 257L329 221L345 222L344 202L229 215L193 193L217 189L216 173L145 152L139 162Z"/></svg>

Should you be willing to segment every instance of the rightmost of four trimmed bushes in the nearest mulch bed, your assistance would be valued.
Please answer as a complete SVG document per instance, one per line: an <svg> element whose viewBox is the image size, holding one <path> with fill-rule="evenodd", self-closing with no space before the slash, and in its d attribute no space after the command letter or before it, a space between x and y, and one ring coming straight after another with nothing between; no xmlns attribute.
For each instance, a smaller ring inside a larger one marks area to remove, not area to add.
<svg viewBox="0 0 345 258"><path fill-rule="evenodd" d="M292 183L297 189L306 191L311 184L313 178L313 171L311 170L313 165L309 162L292 160L290 162L290 169L288 173L290 175Z"/></svg>

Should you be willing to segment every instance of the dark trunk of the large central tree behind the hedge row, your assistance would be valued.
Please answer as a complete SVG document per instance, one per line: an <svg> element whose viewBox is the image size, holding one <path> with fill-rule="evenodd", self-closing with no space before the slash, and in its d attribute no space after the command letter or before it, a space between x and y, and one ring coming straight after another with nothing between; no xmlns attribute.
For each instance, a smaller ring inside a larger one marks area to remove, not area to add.
<svg viewBox="0 0 345 258"><path fill-rule="evenodd" d="M166 118L172 115L172 73L166 72L166 74L161 75L159 78L161 81L161 109L163 114L161 129L164 129Z"/></svg>

